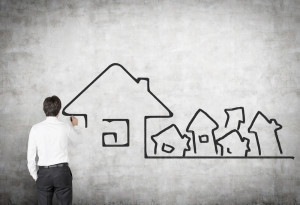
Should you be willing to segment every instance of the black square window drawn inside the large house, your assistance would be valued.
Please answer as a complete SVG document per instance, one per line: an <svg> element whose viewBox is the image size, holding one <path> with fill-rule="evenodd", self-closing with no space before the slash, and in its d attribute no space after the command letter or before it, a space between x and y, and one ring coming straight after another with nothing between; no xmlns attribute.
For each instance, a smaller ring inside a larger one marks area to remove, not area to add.
<svg viewBox="0 0 300 205"><path fill-rule="evenodd" d="M129 119L103 119L104 122L125 122L126 123L126 142L123 144L118 144L118 134L116 132L103 132L102 133L102 146L103 147L129 147ZM113 136L114 137L114 143L106 143L107 136Z"/></svg>

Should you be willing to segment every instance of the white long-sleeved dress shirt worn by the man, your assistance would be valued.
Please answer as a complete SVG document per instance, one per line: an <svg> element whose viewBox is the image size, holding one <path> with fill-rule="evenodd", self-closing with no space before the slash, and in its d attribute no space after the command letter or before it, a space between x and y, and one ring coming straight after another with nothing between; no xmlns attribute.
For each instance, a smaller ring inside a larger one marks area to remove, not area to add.
<svg viewBox="0 0 300 205"><path fill-rule="evenodd" d="M34 180L37 179L36 155L38 155L38 166L69 162L68 138L72 129L72 126L61 122L57 117L47 117L46 120L31 128L28 139L27 166Z"/></svg>

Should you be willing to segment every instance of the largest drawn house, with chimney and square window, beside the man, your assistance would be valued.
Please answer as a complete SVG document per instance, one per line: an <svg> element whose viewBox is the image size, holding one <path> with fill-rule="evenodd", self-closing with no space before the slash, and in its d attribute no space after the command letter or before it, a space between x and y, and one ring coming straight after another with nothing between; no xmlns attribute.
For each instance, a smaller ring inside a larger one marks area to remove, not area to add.
<svg viewBox="0 0 300 205"><path fill-rule="evenodd" d="M114 79L117 77L119 78ZM101 84L101 81L104 81L105 83ZM97 89L94 90L93 93L90 95L86 94L90 89L92 89L92 87L95 86ZM101 92L104 92L105 94L100 100L97 98L97 96ZM105 131L102 133L102 146L104 147L120 147L130 145L130 121L132 120L131 118L137 114L134 113L134 111L136 111L136 107L142 107L143 110L142 114L144 114L145 125L143 129L145 135L147 119L168 118L173 116L173 113L170 111L170 109L151 92L148 78L135 78L122 65L117 63L109 65L91 83L89 83L81 92L79 92L79 94L77 94L62 110L63 115L83 117L85 121L85 127L87 128L89 124L89 116L85 112L85 107L79 104L77 106L78 110L71 110L72 106L81 99L85 99L87 101L86 104L89 104L89 101L101 103L103 106L97 104L97 106L93 108L93 110L96 110L96 112L99 112L101 107L105 107L105 110L107 113L109 113L109 116L103 116L103 114L99 113L99 116L101 117L97 119L97 121L108 122L110 124L118 123L119 126L125 125L123 126L124 130L121 133L117 133L114 130ZM157 109L149 110L149 107L151 106ZM122 139L120 139L121 135L124 136Z"/></svg>

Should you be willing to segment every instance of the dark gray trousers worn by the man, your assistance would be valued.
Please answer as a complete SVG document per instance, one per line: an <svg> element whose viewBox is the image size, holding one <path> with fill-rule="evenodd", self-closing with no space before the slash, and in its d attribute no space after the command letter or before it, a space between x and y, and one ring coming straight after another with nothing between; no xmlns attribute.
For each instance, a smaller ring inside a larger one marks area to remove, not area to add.
<svg viewBox="0 0 300 205"><path fill-rule="evenodd" d="M72 172L68 166L39 169L36 185L39 205L52 205L54 193L59 205L72 204Z"/></svg>

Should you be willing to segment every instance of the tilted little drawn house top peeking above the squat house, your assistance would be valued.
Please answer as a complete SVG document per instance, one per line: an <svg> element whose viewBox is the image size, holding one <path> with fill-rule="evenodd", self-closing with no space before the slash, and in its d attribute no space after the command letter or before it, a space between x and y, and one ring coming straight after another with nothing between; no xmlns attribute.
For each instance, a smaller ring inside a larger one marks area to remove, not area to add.
<svg viewBox="0 0 300 205"><path fill-rule="evenodd" d="M229 108L229 109L225 109L224 112L227 115L227 119L225 122L225 128L227 128L228 124L232 124L232 125L237 124L237 128L235 128L235 129L239 130L241 127L241 123L245 123L244 107ZM230 113L234 113L235 115L238 115L238 116L232 120L233 117L230 118Z"/></svg>

